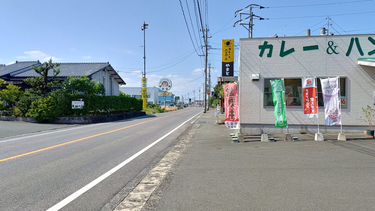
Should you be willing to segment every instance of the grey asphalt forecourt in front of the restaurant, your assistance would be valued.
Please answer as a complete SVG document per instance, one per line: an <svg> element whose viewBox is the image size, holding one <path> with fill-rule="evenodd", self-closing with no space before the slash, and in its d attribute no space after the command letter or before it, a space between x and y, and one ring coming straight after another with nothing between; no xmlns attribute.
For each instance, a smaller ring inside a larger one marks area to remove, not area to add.
<svg viewBox="0 0 375 211"><path fill-rule="evenodd" d="M215 125L213 112L194 123L195 139L159 185L167 188L148 206L152 210L375 209L375 140L314 141L311 134L294 134L302 141L275 135L279 141L260 142L250 135L232 143L232 130Z"/></svg>

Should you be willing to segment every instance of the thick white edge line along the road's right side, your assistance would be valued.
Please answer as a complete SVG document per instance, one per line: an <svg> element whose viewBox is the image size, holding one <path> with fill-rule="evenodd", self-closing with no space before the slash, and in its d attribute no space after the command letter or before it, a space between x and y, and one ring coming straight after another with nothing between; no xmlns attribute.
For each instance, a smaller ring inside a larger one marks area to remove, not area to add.
<svg viewBox="0 0 375 211"><path fill-rule="evenodd" d="M195 109L195 108L194 108ZM194 110L192 109L192 110ZM188 110L190 111L190 110ZM203 111L202 111L203 112ZM195 116L199 115L200 113L202 112L199 112L197 113L196 115L192 116L192 118L190 119L193 119ZM181 112L182 113L182 112ZM139 155L141 155L143 152L145 152L147 149L150 149L152 146L154 146L156 143L160 142L161 140L163 140L165 137L169 136L171 133L173 133L175 130L177 130L178 128L180 128L182 125L184 125L186 122L190 121L190 119L184 121L182 124L178 125L176 128L174 128L173 130L169 131L167 134L165 134L164 136L160 137L159 139L157 139L156 141L152 142L150 145L146 146L145 148L143 148L141 151L137 152L136 154L132 155L131 157L127 158L125 161L123 161L122 163L118 164L117 166L115 166L113 169L109 170L108 172L104 173L102 176L99 176L98 178L96 178L94 181L90 182L89 184L85 185L83 188L81 188L80 190L77 190L75 191L73 194L71 194L70 196L66 197L65 199L63 199L62 201L58 202L57 204L55 204L54 206L52 206L51 208L47 209L46 211L57 211L61 208L63 208L65 205L67 205L68 203L70 203L72 200L76 199L78 196L81 196L83 193L85 193L86 191L90 190L90 188L94 187L96 184L98 184L99 182L103 181L105 178L107 178L108 176L110 176L111 174L115 173L118 169L120 169L121 167L125 166L127 163L129 163L130 161L132 161L134 158L138 157Z"/></svg>

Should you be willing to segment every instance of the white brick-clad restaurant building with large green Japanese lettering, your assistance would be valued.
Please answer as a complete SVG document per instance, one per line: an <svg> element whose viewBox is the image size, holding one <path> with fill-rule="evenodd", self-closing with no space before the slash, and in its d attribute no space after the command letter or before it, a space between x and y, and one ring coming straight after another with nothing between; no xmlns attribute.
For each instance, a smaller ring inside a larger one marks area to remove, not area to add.
<svg viewBox="0 0 375 211"><path fill-rule="evenodd" d="M317 133L317 118L306 118L302 78L317 79L321 133L339 133L326 126L319 78L340 77L343 133L369 130L362 107L374 107L375 34L242 38L239 48L239 105L242 133L287 133L275 128L270 80L284 78L289 133Z"/></svg>

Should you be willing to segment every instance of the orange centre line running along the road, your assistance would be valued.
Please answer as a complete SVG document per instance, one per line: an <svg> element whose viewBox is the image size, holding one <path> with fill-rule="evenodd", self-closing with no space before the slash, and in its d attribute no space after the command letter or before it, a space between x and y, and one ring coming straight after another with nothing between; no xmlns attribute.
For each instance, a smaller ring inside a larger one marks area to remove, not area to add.
<svg viewBox="0 0 375 211"><path fill-rule="evenodd" d="M194 110L194 109L190 109L190 110L187 110L187 111L184 111L184 112L188 112L188 111L191 111L191 110ZM67 145L69 143L78 142L78 141L85 140L85 139L90 139L92 137L101 136L101 135L108 134L108 133L113 133L113 132L116 132L116 131L119 131L119 130L123 130L123 129L126 129L126 128L134 127L134 126L141 125L141 124L144 124L144 123L147 123L147 122L152 122L152 121L155 121L155 120L158 120L158 119L163 119L163 118L166 118L166 117L169 117L169 116L173 116L173 115L177 115L177 114L184 113L184 112L179 112L179 113L171 114L171 115L168 115L168 116L163 116L163 117L160 117L160 118L157 118L157 119L151 119L151 120L148 120L148 121L140 122L138 124L130 125L130 126L127 126L127 127L116 129L116 130L111 130L111 131L107 131L107 132L104 132L104 133L99 133L99 134L96 134L96 135L93 135L93 136L87 136L87 137L84 137L84 138L81 138L81 139L76 139L76 140L73 140L73 141L70 141L70 142L65 142L65 143L61 143L61 144L58 144L58 145L49 146L49 147L46 147L46 148L43 148L43 149L38 149L38 150L35 150L35 151L32 151L32 152L27 152L27 153L24 153L24 154L15 155L13 157L1 159L0 162L6 161L6 160L10 160L10 159L13 159L13 158L22 157L22 156L25 156L25 155L34 154L36 152L45 151L47 149L52 149L52 148L55 148L55 147L58 147L58 146Z"/></svg>

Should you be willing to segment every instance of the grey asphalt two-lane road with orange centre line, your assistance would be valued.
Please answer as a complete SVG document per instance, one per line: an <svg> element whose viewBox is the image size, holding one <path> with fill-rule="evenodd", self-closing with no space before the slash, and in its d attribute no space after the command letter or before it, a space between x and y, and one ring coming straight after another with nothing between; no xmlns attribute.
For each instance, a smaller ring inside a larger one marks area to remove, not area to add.
<svg viewBox="0 0 375 211"><path fill-rule="evenodd" d="M187 108L0 139L0 210L47 210L200 112ZM60 210L99 210L189 126L190 121Z"/></svg>

